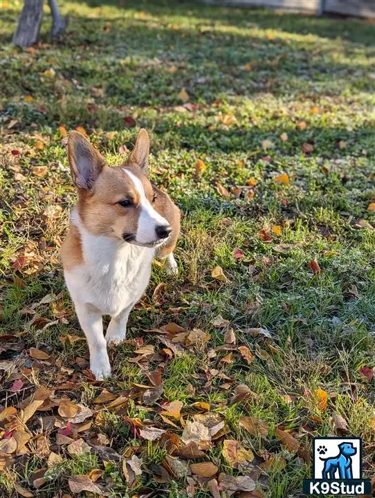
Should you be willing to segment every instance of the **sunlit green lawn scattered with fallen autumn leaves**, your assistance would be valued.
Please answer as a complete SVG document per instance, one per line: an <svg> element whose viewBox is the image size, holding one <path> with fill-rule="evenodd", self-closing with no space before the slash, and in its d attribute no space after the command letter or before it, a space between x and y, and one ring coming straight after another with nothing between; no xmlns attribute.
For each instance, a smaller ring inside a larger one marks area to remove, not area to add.
<svg viewBox="0 0 375 498"><path fill-rule="evenodd" d="M362 436L374 481L374 24L60 3L66 36L46 8L21 50L3 2L1 497L300 497L319 435ZM59 262L66 131L115 165L140 127L179 276L155 261L96 382Z"/></svg>

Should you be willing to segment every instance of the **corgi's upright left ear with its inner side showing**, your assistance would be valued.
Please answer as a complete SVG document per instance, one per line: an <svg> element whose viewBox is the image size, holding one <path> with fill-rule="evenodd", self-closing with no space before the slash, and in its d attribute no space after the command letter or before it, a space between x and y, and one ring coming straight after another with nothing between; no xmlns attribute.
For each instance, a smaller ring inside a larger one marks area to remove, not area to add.
<svg viewBox="0 0 375 498"><path fill-rule="evenodd" d="M91 190L106 167L104 158L78 131L71 131L68 135L68 161L75 185L83 190Z"/></svg>

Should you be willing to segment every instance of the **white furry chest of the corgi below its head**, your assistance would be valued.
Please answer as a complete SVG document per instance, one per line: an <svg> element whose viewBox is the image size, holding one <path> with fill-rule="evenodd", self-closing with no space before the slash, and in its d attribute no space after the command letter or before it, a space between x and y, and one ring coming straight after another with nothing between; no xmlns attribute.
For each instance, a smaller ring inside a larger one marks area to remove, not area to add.
<svg viewBox="0 0 375 498"><path fill-rule="evenodd" d="M109 315L133 306L149 283L154 249L87 232L81 235L85 263L65 273L73 300Z"/></svg>

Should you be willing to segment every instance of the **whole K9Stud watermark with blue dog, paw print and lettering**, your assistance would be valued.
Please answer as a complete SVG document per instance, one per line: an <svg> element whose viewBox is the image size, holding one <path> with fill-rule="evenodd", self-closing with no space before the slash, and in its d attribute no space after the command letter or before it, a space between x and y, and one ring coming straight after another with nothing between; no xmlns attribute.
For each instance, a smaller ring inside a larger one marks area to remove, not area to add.
<svg viewBox="0 0 375 498"><path fill-rule="evenodd" d="M358 496L371 493L371 481L362 479L360 438L315 438L313 479L304 479L306 495Z"/></svg>

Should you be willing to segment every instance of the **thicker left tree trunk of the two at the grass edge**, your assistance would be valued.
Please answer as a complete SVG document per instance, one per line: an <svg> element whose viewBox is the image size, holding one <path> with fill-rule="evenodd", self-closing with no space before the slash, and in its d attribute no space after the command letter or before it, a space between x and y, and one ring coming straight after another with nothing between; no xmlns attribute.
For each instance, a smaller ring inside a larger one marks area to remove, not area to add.
<svg viewBox="0 0 375 498"><path fill-rule="evenodd" d="M25 0L13 35L13 44L28 47L35 44L43 19L43 0Z"/></svg>

